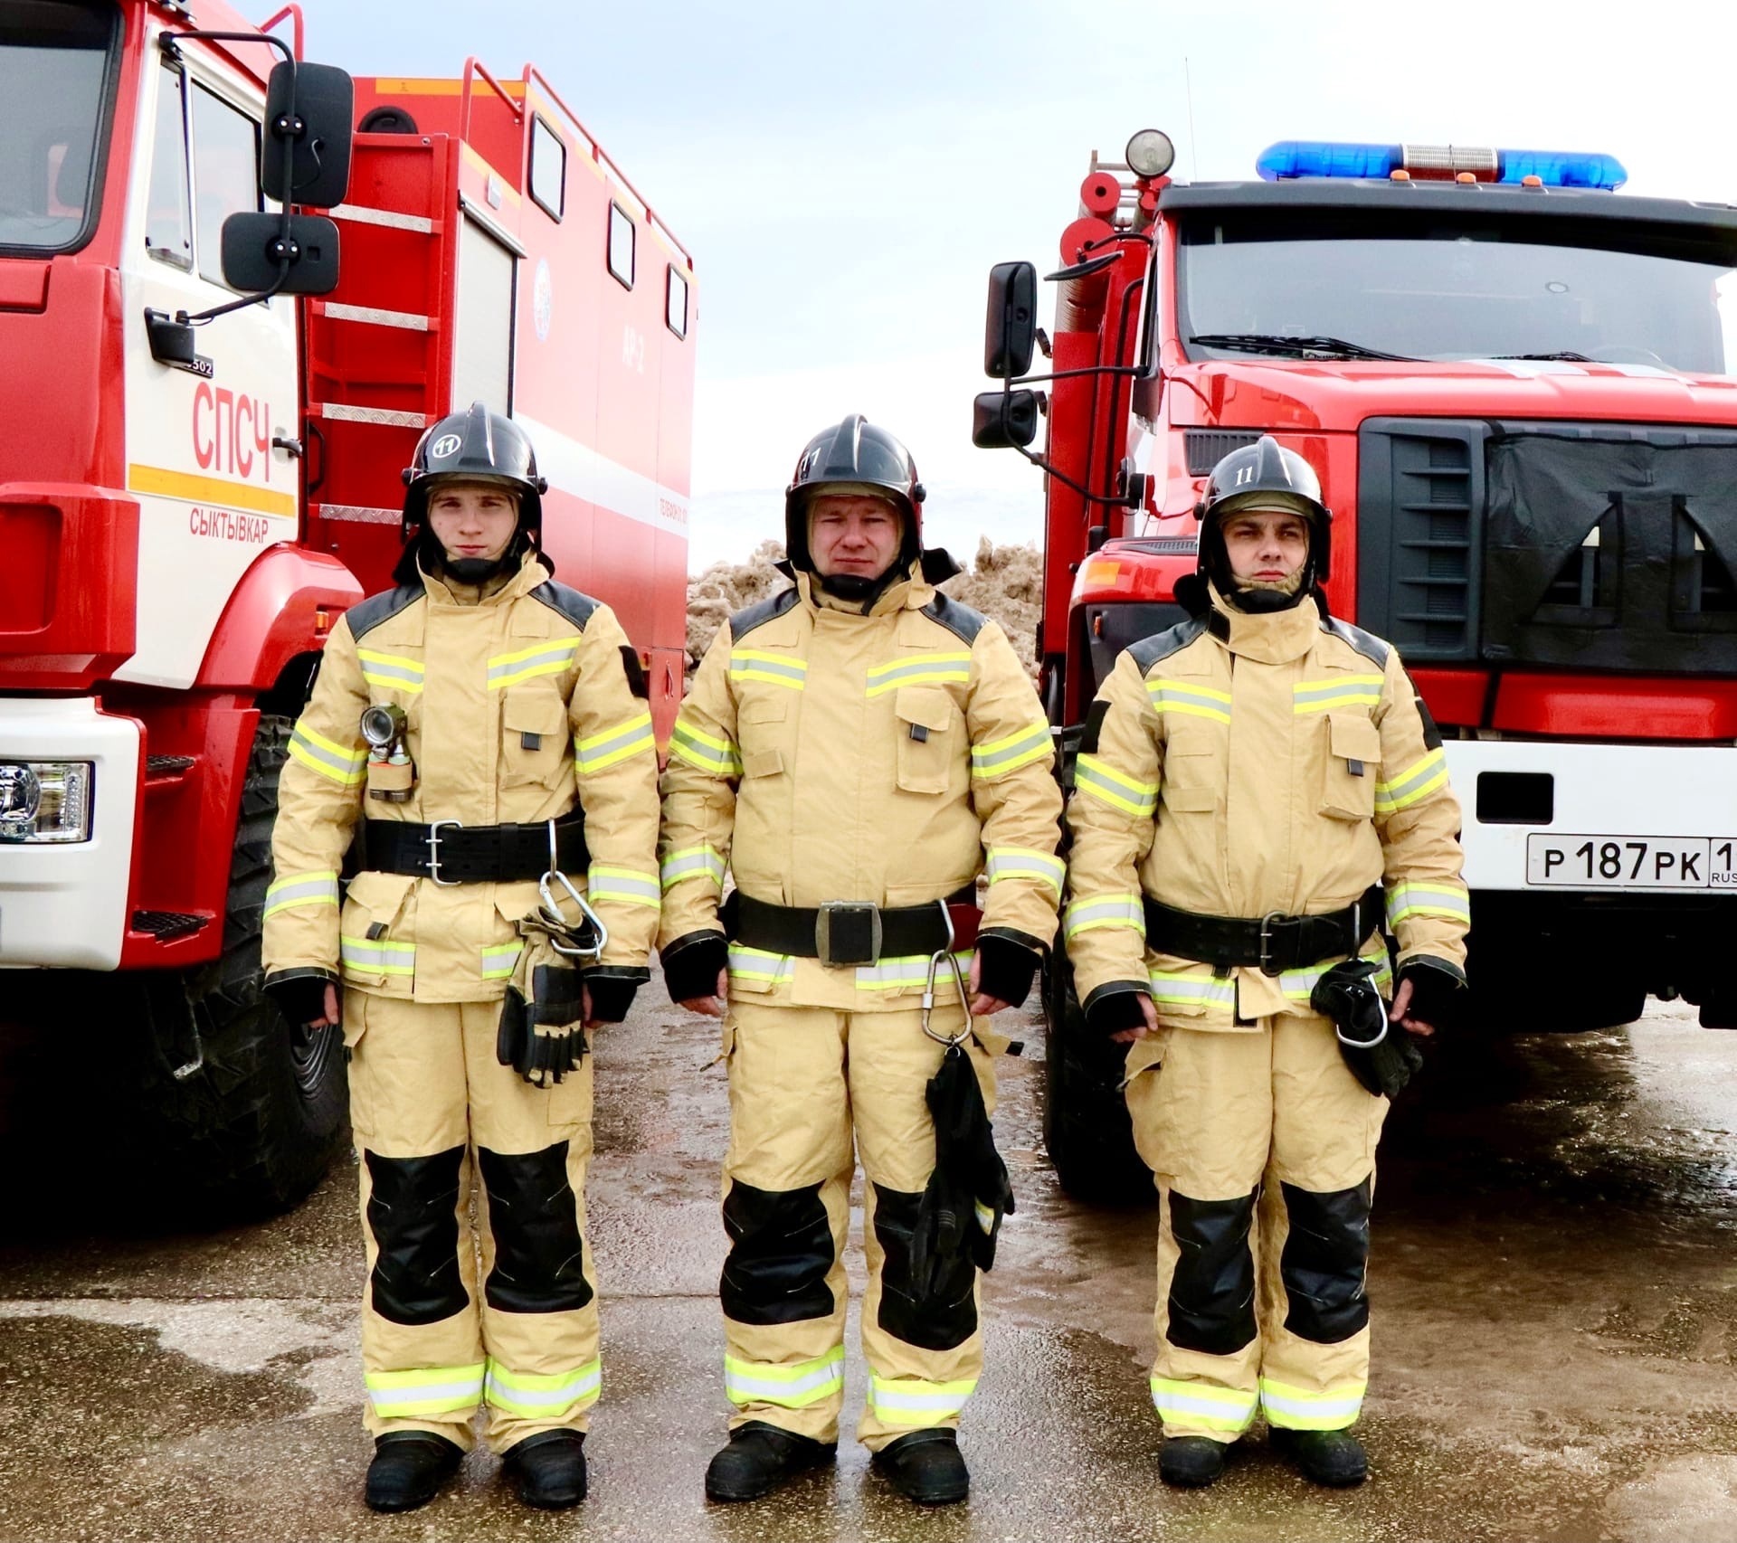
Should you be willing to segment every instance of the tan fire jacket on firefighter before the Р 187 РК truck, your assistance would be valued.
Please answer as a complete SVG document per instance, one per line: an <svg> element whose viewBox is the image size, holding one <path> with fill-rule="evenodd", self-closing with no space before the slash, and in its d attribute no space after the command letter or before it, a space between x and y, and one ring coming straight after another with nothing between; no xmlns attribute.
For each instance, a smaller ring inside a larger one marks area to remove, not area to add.
<svg viewBox="0 0 1737 1543"><path fill-rule="evenodd" d="M1148 951L1141 894L1209 916L1306 915L1383 883L1398 962L1459 974L1471 915L1442 738L1398 653L1304 599L1212 609L1126 649L1086 720L1065 934L1080 1001L1148 984L1160 1019L1308 1012L1324 960L1214 977ZM1383 958L1379 934L1365 949ZM1384 982L1383 982L1384 984Z"/></svg>

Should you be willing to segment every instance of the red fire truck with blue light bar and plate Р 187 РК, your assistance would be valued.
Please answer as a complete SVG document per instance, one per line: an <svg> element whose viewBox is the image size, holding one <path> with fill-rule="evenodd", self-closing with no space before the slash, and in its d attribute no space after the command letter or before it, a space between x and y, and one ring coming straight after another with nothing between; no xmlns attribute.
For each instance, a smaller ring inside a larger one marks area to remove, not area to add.
<svg viewBox="0 0 1737 1543"><path fill-rule="evenodd" d="M1063 748L1181 620L1212 463L1273 434L1334 512L1334 613L1445 736L1482 1017L1614 1026L1650 991L1737 1026L1737 208L1619 194L1602 154L1285 142L1193 186L1171 160L1157 130L1093 156L1053 337L1030 264L990 281L974 434L1047 474ZM1049 1146L1103 1192L1136 1161L1056 963Z"/></svg>

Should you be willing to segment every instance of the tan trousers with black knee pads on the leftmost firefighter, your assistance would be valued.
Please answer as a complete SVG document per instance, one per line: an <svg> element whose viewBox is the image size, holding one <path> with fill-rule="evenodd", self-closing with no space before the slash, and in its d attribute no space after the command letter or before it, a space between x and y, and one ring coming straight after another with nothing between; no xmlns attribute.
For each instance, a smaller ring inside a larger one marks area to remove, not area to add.
<svg viewBox="0 0 1737 1543"><path fill-rule="evenodd" d="M558 1087L532 1087L495 1060L499 1021L500 1001L344 993L373 1435L433 1430L469 1449L486 1402L500 1453L584 1430L598 1399L591 1057Z"/></svg>

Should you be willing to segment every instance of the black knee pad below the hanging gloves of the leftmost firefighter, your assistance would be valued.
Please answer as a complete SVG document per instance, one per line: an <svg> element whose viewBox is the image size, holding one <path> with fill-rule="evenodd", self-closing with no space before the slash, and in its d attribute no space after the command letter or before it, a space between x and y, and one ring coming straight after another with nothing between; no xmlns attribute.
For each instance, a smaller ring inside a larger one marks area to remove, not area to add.
<svg viewBox="0 0 1737 1543"><path fill-rule="evenodd" d="M571 1312L591 1302L578 1198L566 1180L566 1142L505 1156L476 1149L488 1189L495 1267L483 1300L500 1312Z"/></svg>

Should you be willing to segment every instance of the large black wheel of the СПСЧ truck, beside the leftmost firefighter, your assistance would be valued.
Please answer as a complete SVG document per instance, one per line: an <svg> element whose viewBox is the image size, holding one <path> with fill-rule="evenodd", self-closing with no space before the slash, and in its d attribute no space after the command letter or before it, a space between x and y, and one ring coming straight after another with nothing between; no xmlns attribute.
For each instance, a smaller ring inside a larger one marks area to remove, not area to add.
<svg viewBox="0 0 1737 1543"><path fill-rule="evenodd" d="M201 1222L288 1210L344 1135L342 1031L292 1028L261 993L261 913L292 720L261 717L229 864L222 955L130 977L137 1114L153 1198Z"/></svg>

